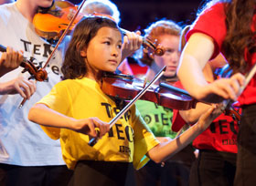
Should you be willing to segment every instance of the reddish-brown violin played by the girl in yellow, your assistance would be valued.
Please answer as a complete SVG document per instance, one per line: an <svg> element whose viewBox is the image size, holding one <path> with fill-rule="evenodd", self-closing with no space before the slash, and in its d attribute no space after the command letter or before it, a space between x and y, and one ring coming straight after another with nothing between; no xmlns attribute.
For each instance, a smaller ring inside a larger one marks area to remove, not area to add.
<svg viewBox="0 0 256 186"><path fill-rule="evenodd" d="M144 88L144 81L128 75L105 74L102 78L102 91L112 98L129 100ZM152 85L141 99L152 101L169 109L194 109L197 100L191 98L186 90L160 83Z"/></svg>

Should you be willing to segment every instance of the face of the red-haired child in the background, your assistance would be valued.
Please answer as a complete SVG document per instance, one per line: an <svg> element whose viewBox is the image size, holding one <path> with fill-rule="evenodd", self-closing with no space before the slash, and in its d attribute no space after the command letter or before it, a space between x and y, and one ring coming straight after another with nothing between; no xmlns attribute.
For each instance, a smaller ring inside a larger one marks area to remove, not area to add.
<svg viewBox="0 0 256 186"><path fill-rule="evenodd" d="M155 64L159 68L166 66L165 77L174 77L180 57L180 52L178 51L179 36L159 36L158 42L165 47L165 54L161 57L155 56Z"/></svg>

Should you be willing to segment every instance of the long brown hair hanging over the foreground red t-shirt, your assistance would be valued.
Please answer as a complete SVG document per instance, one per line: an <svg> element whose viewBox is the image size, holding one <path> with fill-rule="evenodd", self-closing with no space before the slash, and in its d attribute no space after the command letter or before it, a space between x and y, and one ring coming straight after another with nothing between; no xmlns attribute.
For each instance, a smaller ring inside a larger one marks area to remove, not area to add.
<svg viewBox="0 0 256 186"><path fill-rule="evenodd" d="M252 53L256 47L255 33L251 31L255 0L212 0L203 9L219 2L224 3L226 14L227 35L222 44L225 57L234 73L244 73L248 70L245 49Z"/></svg>

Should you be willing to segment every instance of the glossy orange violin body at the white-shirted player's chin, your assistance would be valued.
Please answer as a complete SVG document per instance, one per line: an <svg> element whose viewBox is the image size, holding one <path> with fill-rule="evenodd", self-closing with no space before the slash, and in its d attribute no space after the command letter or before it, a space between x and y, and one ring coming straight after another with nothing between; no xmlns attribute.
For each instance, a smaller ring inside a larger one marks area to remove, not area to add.
<svg viewBox="0 0 256 186"><path fill-rule="evenodd" d="M73 15L77 12L77 6L69 1L55 1L54 5L47 12L38 12L33 19L33 25L39 36L46 39L58 40L61 34L69 25ZM78 15L70 30L80 21L83 15Z"/></svg>

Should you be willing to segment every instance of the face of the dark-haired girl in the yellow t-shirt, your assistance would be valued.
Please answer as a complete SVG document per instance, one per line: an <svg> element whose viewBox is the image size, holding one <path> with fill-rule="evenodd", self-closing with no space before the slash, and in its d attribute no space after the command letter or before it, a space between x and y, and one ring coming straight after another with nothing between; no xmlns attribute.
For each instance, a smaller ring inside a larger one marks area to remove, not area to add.
<svg viewBox="0 0 256 186"><path fill-rule="evenodd" d="M118 29L101 27L82 52L94 70L114 72L121 62L122 36ZM90 68L89 68L90 70Z"/></svg>

